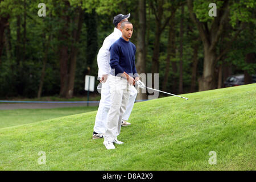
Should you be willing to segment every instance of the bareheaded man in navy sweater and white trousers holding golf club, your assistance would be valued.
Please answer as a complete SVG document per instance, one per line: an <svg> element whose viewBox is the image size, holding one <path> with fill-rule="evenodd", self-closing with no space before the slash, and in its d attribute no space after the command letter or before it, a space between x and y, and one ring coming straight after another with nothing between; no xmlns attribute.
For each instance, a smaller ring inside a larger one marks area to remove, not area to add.
<svg viewBox="0 0 256 182"><path fill-rule="evenodd" d="M131 87L136 84L139 88L145 85L139 80L135 68L136 47L129 41L133 35L133 24L126 21L121 24L122 37L110 47L109 76L111 106L107 118L107 129L104 145L107 149L114 149L115 144L123 144L117 140L121 131L122 115L126 110ZM135 78L135 79L134 79Z"/></svg>

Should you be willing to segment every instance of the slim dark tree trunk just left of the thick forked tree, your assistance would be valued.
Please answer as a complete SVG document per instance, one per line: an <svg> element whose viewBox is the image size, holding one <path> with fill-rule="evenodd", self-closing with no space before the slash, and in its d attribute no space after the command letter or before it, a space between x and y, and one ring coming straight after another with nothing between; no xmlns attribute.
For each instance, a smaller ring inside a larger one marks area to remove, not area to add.
<svg viewBox="0 0 256 182"><path fill-rule="evenodd" d="M195 44L195 46L193 48L193 66L192 66L190 92L196 92L196 73L197 73L197 64L198 64L198 49L199 49L199 44Z"/></svg>

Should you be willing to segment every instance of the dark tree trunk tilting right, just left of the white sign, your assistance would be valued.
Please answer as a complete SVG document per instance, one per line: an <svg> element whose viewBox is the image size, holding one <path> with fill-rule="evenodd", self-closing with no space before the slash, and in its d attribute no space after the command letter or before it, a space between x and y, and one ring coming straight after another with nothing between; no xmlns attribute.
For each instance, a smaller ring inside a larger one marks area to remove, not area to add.
<svg viewBox="0 0 256 182"><path fill-rule="evenodd" d="M73 97L73 90L74 90L74 83L75 83L75 76L76 76L76 56L78 52L77 43L79 43L81 28L82 28L82 19L84 16L84 11L82 11L81 7L79 8L79 16L77 22L77 30L73 32L73 46L71 48L71 64L69 69L69 81L68 81L68 89L65 94L66 98Z"/></svg>

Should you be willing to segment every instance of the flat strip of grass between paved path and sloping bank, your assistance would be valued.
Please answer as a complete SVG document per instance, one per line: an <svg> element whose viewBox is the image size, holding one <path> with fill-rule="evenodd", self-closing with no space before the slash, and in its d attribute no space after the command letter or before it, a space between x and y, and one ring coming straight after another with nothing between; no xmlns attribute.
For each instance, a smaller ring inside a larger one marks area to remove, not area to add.
<svg viewBox="0 0 256 182"><path fill-rule="evenodd" d="M26 123L44 121L66 115L86 113L97 110L97 106L89 107L64 107L57 109L15 109L0 110L0 129Z"/></svg>

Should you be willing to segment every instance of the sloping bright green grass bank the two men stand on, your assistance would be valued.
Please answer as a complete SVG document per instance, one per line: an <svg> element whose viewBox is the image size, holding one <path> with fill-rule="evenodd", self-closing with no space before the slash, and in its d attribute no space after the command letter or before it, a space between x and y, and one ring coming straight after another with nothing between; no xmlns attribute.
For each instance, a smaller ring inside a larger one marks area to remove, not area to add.
<svg viewBox="0 0 256 182"><path fill-rule="evenodd" d="M92 140L96 111L0 129L0 169L255 170L256 84L183 96L135 104L115 150Z"/></svg>

